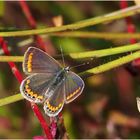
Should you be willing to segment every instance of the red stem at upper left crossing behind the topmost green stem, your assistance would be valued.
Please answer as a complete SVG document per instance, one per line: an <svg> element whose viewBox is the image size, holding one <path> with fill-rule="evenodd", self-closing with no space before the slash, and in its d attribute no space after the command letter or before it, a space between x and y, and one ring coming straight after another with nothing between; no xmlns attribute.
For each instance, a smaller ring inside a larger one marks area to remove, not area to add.
<svg viewBox="0 0 140 140"><path fill-rule="evenodd" d="M27 21L28 21L30 27L32 29L35 29L37 27L37 24L30 12L30 9L29 9L27 3L24 0L19 0L19 4L22 8L22 11L23 11L25 17L27 18ZM34 37L35 37L36 42L39 44L40 48L45 50L47 47L46 47L46 44L43 41L43 39L39 35L35 35Z"/></svg>

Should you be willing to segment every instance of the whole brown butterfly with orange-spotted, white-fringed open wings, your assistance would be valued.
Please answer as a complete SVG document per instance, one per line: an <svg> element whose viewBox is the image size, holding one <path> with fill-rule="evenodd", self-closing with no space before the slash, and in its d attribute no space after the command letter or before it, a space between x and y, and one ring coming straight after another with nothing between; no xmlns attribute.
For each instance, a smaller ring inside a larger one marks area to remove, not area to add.
<svg viewBox="0 0 140 140"><path fill-rule="evenodd" d="M29 76L20 85L21 94L30 102L43 104L50 117L57 116L64 104L76 99L85 86L70 67L63 67L35 47L29 47L25 52L23 71Z"/></svg>

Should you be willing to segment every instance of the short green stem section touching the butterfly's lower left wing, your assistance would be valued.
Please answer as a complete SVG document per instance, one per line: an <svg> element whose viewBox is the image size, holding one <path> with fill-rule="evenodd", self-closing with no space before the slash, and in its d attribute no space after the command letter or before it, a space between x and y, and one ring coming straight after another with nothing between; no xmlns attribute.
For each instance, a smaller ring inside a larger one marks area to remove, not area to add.
<svg viewBox="0 0 140 140"><path fill-rule="evenodd" d="M20 101L20 100L23 100L23 99L24 98L21 94L16 94L16 95L12 95L12 96L9 96L9 97L5 97L5 98L0 99L0 106L4 106L4 105L10 104L10 103L14 103L14 102L17 102L17 101Z"/></svg>

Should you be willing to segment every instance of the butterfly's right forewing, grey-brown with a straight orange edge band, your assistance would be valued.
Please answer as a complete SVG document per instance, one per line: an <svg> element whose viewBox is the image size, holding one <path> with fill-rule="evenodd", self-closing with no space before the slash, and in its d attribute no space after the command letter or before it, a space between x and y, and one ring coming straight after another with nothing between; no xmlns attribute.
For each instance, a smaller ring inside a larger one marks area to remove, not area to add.
<svg viewBox="0 0 140 140"><path fill-rule="evenodd" d="M76 99L84 89L84 81L74 72L68 72L65 79L65 103Z"/></svg>

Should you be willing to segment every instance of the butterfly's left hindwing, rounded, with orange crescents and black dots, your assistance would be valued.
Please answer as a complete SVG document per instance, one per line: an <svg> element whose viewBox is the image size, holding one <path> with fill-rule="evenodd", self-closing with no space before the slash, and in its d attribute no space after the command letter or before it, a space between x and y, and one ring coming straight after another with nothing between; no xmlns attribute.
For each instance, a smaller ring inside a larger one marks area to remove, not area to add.
<svg viewBox="0 0 140 140"><path fill-rule="evenodd" d="M44 102L49 97L49 93L46 93L46 91L54 76L52 73L36 73L28 76L20 85L21 94L30 102Z"/></svg>

